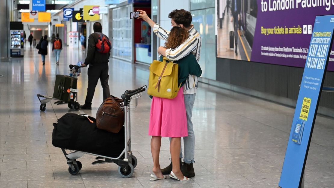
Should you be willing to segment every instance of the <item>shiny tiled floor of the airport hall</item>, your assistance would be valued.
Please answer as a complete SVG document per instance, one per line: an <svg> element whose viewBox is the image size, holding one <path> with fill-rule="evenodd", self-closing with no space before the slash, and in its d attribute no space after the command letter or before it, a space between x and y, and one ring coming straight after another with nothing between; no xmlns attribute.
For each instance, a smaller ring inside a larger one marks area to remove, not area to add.
<svg viewBox="0 0 334 188"><path fill-rule="evenodd" d="M193 110L196 176L191 181L149 181L153 165L147 135L151 99L146 94L132 113L132 148L138 159L133 177L121 178L115 164L93 166L94 157L89 155L80 158L80 173L70 175L61 150L51 144L52 123L68 112L95 116L102 88L98 85L96 89L93 109L78 112L53 103L40 112L36 94L52 95L55 75L67 74L68 64L82 61L84 56L78 50L65 49L59 66L51 53L42 66L36 49L28 47L23 59L0 63L4 75L0 78L0 188L278 186L294 109L202 83ZM111 93L120 96L127 89L147 84L149 72L145 66L112 60L109 74ZM87 81L87 69L83 69L78 79L81 104ZM333 134L333 119L318 116L305 187L333 187ZM161 150L161 166L166 166L170 163L168 138L163 139Z"/></svg>

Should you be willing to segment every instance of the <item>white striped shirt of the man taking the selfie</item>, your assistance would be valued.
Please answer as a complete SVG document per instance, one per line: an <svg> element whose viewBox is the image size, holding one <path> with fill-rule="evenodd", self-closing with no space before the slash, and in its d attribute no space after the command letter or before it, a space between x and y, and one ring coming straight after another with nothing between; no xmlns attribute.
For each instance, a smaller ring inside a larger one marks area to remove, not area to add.
<svg viewBox="0 0 334 188"><path fill-rule="evenodd" d="M163 29L157 23L154 24L153 32L163 40L167 40L169 35L169 31ZM202 45L201 36L194 29L193 25L189 29L188 33L189 36L185 42L177 46L175 49L166 50L166 58L168 58L171 61L177 61L192 53L196 57L197 62L199 61L201 45ZM197 86L198 86L197 76L189 75L186 83L183 86L183 93L184 94L196 93L195 89L197 89Z"/></svg>

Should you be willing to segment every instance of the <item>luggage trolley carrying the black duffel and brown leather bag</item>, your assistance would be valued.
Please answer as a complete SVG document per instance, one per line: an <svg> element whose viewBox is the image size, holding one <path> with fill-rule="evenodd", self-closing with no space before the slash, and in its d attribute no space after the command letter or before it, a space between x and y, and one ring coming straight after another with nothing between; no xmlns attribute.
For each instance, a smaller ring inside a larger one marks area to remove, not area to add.
<svg viewBox="0 0 334 188"><path fill-rule="evenodd" d="M124 140L125 146L123 152L117 157L112 158L108 156L103 156L99 154L93 154L88 152L81 152L70 150L71 153L67 154L65 148L61 148L61 151L65 155L67 160L68 172L71 175L76 175L82 168L82 164L76 159L82 157L84 154L89 154L97 156L96 160L92 165L105 164L105 163L115 163L118 167L118 173L123 178L129 178L133 175L134 169L137 166L137 158L132 155L131 151L131 119L130 111L135 110L138 104L138 98L141 97L143 91L147 86L140 87L135 90L127 90L122 95L124 102L120 103L121 109L124 110Z"/></svg>

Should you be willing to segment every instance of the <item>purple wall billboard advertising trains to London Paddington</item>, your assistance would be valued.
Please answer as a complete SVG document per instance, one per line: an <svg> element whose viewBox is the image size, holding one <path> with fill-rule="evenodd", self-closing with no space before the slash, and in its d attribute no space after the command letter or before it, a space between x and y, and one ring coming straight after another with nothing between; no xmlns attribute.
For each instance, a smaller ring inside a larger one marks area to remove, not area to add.
<svg viewBox="0 0 334 188"><path fill-rule="evenodd" d="M217 57L305 67L314 19L329 14L333 0L217 0Z"/></svg>

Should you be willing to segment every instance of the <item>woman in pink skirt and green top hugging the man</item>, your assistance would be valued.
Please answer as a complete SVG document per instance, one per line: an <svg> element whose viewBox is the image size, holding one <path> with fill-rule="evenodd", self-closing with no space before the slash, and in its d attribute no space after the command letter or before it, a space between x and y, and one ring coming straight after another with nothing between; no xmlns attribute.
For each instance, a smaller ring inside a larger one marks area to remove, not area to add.
<svg viewBox="0 0 334 188"><path fill-rule="evenodd" d="M181 27L173 27L165 43L167 49L175 49L188 38L188 32ZM160 58L162 59L162 57ZM161 61L161 60L160 60ZM202 71L193 54L182 58L178 63L178 84L181 88L177 96L173 99L153 97L151 104L149 135L151 139L151 152L153 158L153 173L150 180L160 180L166 177L161 173L159 164L159 154L161 147L161 137L171 137L170 154L172 158L173 170L170 177L180 181L187 181L189 178L183 176L180 165L180 145L181 137L188 136L186 109L184 105L183 87L189 74L200 76Z"/></svg>

